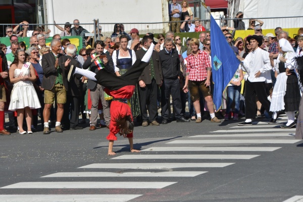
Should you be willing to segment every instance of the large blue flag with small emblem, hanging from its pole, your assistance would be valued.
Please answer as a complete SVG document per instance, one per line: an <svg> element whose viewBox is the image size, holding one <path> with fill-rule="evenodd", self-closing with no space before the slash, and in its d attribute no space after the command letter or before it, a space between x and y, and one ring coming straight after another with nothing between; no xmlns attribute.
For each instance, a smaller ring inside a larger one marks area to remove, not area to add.
<svg viewBox="0 0 303 202"><path fill-rule="evenodd" d="M213 99L216 109L222 105L222 94L236 73L240 61L228 44L222 30L211 15L211 53L214 92Z"/></svg>

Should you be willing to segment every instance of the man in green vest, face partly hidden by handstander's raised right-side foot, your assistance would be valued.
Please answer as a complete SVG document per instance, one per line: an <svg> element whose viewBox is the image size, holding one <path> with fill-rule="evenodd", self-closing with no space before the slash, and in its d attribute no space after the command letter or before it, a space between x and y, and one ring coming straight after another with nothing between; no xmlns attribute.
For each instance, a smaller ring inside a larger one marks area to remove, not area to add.
<svg viewBox="0 0 303 202"><path fill-rule="evenodd" d="M143 58L152 42L153 38L150 36L143 36L143 47L136 52L137 59L141 60ZM149 64L145 67L138 80L143 120L142 126L148 126L147 109L149 113L149 125L159 126L160 124L156 121L158 112L157 89L158 86L162 85L163 76L158 52L153 52Z"/></svg>

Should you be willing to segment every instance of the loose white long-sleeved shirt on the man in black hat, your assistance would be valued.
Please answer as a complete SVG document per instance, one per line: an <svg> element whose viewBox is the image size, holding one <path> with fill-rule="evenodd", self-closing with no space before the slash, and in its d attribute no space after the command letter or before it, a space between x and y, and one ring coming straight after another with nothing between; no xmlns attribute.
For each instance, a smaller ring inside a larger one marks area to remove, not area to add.
<svg viewBox="0 0 303 202"><path fill-rule="evenodd" d="M266 80L267 73L272 69L270 60L269 60L269 53L258 47L255 51L250 52L246 58L243 60L243 67L242 70L249 74L248 80L250 82L262 82ZM255 74L260 71L261 74L258 78L255 77Z"/></svg>

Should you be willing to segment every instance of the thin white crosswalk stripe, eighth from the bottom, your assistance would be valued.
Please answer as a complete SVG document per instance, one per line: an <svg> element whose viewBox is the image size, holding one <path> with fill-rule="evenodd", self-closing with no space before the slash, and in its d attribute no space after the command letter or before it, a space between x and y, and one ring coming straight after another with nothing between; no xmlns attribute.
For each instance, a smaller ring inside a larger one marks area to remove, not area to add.
<svg viewBox="0 0 303 202"><path fill-rule="evenodd" d="M195 137L275 137L275 136L293 137L294 133L245 133L245 134L194 135L194 136L189 136L189 138L195 138Z"/></svg>

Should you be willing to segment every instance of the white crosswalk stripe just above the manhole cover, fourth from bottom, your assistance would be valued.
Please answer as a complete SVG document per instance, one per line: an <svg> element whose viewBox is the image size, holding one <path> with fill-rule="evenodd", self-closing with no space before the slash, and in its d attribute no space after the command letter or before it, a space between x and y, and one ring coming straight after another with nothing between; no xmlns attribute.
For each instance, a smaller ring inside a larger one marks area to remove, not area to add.
<svg viewBox="0 0 303 202"><path fill-rule="evenodd" d="M90 164L79 168L100 169L173 169L173 168L223 168L234 163L115 163L115 164Z"/></svg>

